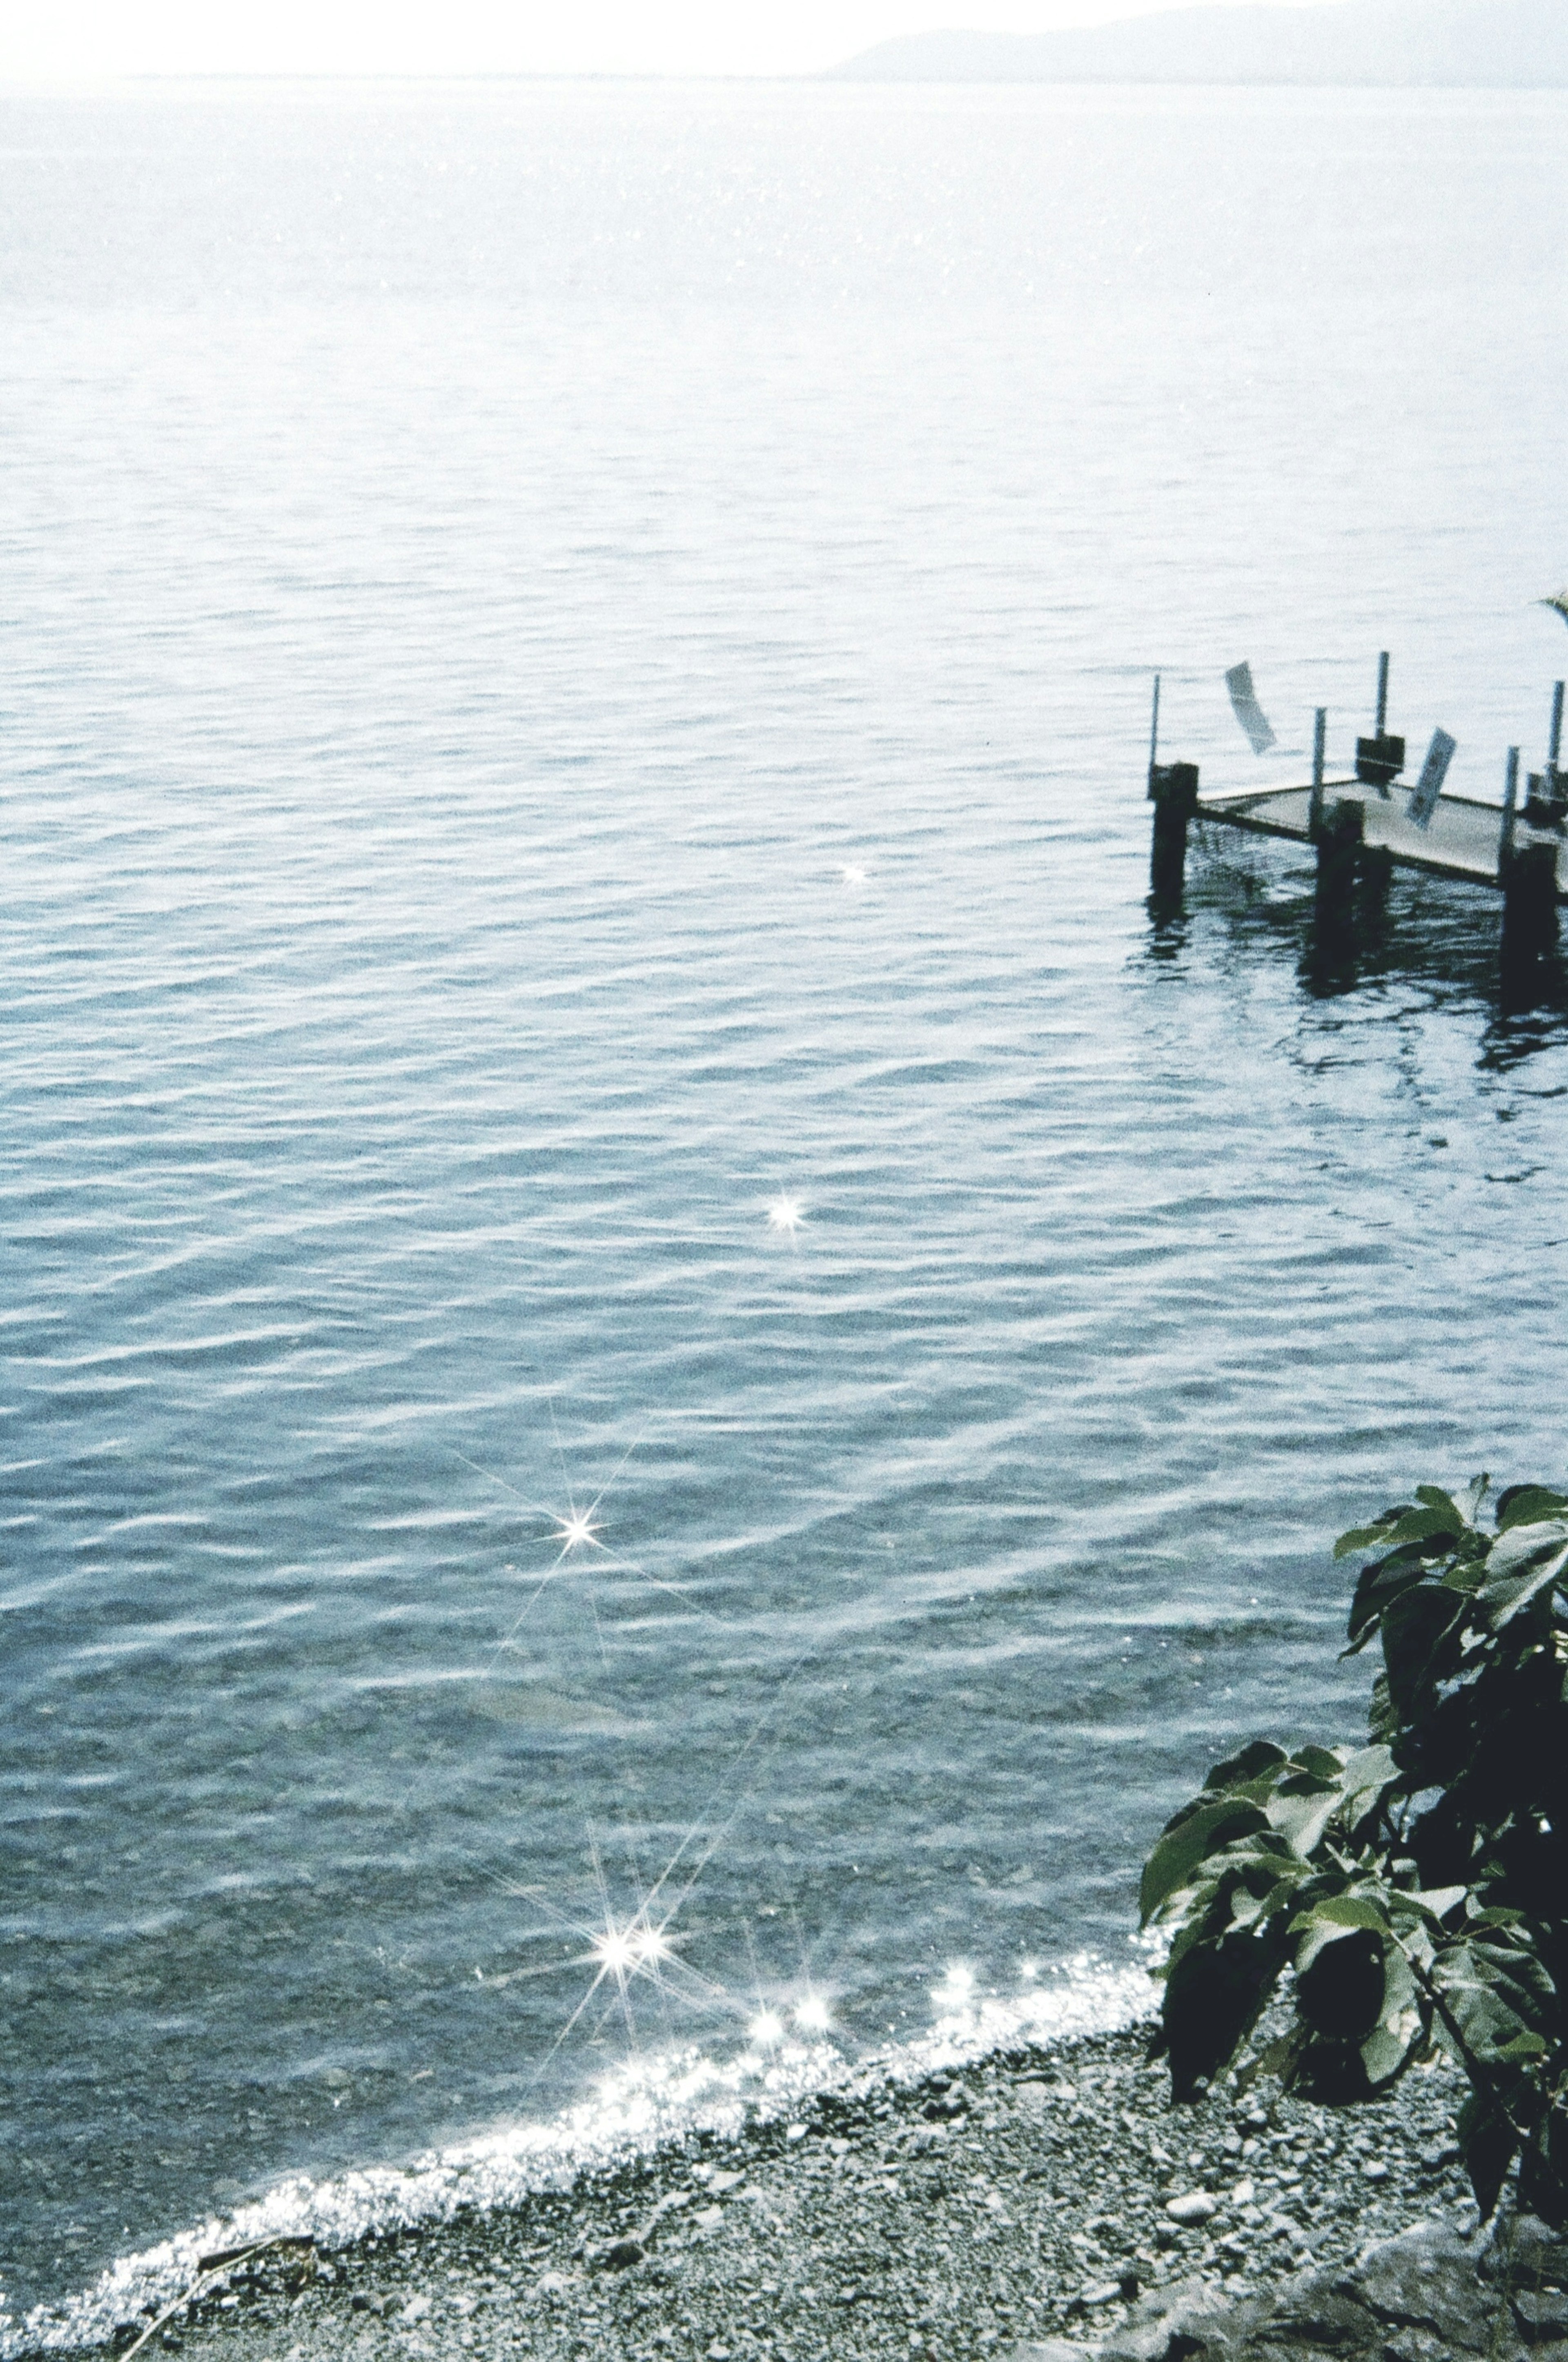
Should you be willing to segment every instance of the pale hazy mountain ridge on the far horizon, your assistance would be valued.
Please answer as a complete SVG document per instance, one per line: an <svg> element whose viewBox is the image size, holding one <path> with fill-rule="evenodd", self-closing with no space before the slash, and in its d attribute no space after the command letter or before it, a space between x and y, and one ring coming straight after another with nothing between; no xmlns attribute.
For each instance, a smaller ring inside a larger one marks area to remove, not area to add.
<svg viewBox="0 0 1568 2362"><path fill-rule="evenodd" d="M848 59L831 78L1563 90L1568 0L1181 7L1077 33L907 33Z"/></svg>

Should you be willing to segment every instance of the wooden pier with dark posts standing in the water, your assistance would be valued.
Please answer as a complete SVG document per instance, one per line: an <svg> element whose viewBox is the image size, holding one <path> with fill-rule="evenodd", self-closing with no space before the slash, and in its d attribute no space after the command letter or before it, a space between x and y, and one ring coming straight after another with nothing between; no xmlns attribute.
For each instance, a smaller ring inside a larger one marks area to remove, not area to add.
<svg viewBox="0 0 1568 2362"><path fill-rule="evenodd" d="M1244 671L1244 668L1242 668ZM1540 954L1556 945L1556 909L1568 902L1559 848L1568 827L1568 772L1559 770L1563 683L1551 704L1551 751L1533 772L1521 803L1518 746L1509 746L1502 805L1445 796L1452 739L1438 732L1429 756L1431 791L1400 787L1405 742L1386 732L1389 659L1379 659L1377 727L1355 742L1355 772L1325 775L1327 716L1315 718L1313 777L1242 794L1204 796L1195 763L1159 763L1159 680L1150 730L1148 794L1155 805L1150 886L1157 900L1181 895L1188 827L1195 820L1252 836L1280 836L1318 853L1318 924L1348 928L1355 888L1386 888L1393 869L1485 886L1502 895L1504 947ZM1263 723L1263 732L1268 725ZM1440 753L1440 746L1445 749ZM1440 758L1438 758L1440 753ZM1433 770L1436 765L1436 770ZM1568 872L1568 864L1563 864Z"/></svg>

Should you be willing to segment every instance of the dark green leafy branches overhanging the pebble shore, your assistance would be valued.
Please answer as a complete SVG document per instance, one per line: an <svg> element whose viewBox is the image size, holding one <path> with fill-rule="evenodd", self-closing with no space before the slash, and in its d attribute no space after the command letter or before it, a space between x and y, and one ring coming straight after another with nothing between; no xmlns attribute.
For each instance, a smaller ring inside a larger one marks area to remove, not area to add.
<svg viewBox="0 0 1568 2362"><path fill-rule="evenodd" d="M1162 2029L1178 2100L1242 2071L1320 2100L1448 2053L1483 2213L1568 2220L1568 1495L1417 1486L1339 1538L1367 1554L1346 1656L1372 1642L1367 1743L1259 1738L1167 1821L1145 1925L1169 1932Z"/></svg>

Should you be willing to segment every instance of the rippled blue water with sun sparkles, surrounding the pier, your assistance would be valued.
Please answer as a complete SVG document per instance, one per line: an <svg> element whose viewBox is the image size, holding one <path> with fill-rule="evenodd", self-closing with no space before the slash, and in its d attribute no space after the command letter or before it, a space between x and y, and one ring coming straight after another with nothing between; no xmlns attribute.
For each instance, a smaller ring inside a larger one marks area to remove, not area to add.
<svg viewBox="0 0 1568 2362"><path fill-rule="evenodd" d="M1185 1783L1355 1729L1329 1538L1563 1474L1563 1020L1464 890L1155 928L1141 765L1379 645L1540 763L1566 113L2 106L12 2345L628 2060L1124 2005Z"/></svg>

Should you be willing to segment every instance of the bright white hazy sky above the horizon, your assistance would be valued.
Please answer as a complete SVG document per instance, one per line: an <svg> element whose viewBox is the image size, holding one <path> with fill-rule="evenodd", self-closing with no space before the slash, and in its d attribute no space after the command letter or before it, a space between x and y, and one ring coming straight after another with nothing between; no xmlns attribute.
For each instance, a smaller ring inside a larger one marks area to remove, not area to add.
<svg viewBox="0 0 1568 2362"><path fill-rule="evenodd" d="M94 73L810 73L888 33L1044 33L1178 0L0 0L0 80Z"/></svg>

